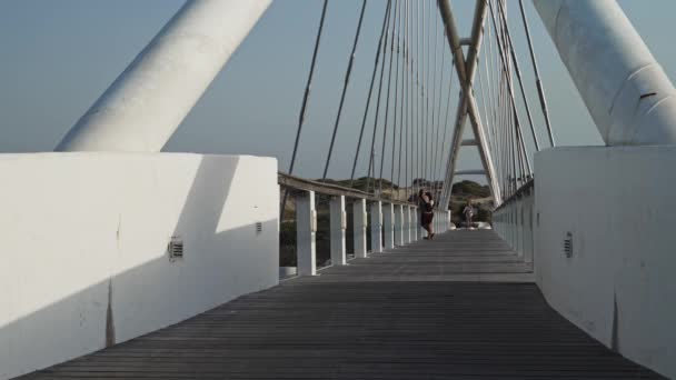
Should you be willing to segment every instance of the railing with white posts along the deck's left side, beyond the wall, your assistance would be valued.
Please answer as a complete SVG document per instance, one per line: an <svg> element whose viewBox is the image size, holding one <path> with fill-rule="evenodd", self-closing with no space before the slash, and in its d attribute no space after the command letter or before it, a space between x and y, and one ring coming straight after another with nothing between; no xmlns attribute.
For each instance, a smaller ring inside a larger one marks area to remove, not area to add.
<svg viewBox="0 0 676 380"><path fill-rule="evenodd" d="M287 203L282 206L285 210L280 210L282 252L290 254L292 242L296 253L296 260L287 258L284 262L295 262L299 276L315 276L318 268L324 267L325 260L318 262L318 246L324 249L328 246L331 266L345 266L347 251L350 250L346 244L348 228L351 230L351 251L357 259L367 258L369 253L396 249L422 238L417 204L286 173L278 174L278 183L281 191L289 196L289 200L282 202ZM328 203L328 212L325 211L326 208L318 210L320 202ZM346 204L351 206L350 223ZM289 216L290 211L294 217ZM320 221L322 228L319 226ZM434 227L437 232L448 230L450 211L437 211ZM291 236L294 232L295 237ZM321 239L327 240L328 236L328 241L318 242L318 232ZM326 257L326 252L324 253L322 257Z"/></svg>

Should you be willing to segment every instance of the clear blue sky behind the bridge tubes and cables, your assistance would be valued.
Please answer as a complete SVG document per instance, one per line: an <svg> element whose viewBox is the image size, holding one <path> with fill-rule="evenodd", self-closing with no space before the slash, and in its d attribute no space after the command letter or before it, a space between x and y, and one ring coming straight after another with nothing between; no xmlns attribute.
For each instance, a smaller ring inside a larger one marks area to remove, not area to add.
<svg viewBox="0 0 676 380"><path fill-rule="evenodd" d="M0 1L0 152L52 150L182 3L183 0ZM368 2L329 177L349 176L385 3ZM509 3L510 14L516 14L516 1ZM675 78L676 53L664 30L676 14L676 1L650 0L649 7L639 0L619 3L669 77ZM359 0L330 2L299 153L297 172L301 176L321 174L360 4ZM461 33L467 34L474 1L455 0L453 6ZM274 156L279 159L280 169L286 170L320 8L319 0L276 0L166 150ZM529 2L528 10L558 141L599 143ZM511 27L515 34L520 33L516 19ZM523 46L517 49L527 67L527 51ZM526 77L530 80L529 70ZM464 151L460 169L475 168L476 152ZM360 173L365 171L362 168Z"/></svg>

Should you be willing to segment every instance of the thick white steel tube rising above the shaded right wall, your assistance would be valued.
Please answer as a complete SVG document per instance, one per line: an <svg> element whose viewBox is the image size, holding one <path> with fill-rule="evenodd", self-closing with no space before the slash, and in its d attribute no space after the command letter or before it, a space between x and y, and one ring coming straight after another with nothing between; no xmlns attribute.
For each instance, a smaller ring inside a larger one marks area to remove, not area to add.
<svg viewBox="0 0 676 380"><path fill-rule="evenodd" d="M676 91L615 0L533 0L608 146L676 143Z"/></svg>

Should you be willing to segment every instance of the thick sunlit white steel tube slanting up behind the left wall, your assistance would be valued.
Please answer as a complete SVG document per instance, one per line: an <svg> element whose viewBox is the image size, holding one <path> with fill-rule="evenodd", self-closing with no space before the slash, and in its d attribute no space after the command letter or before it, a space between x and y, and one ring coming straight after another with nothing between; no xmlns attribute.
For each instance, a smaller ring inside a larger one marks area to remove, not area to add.
<svg viewBox="0 0 676 380"><path fill-rule="evenodd" d="M189 0L57 147L158 152L271 0Z"/></svg>

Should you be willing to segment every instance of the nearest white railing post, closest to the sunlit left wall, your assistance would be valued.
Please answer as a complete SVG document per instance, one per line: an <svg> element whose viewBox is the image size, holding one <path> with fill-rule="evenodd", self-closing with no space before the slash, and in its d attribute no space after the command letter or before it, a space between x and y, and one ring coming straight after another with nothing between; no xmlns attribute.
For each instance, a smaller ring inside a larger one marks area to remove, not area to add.
<svg viewBox="0 0 676 380"><path fill-rule="evenodd" d="M317 274L316 233L315 191L299 191L296 197L296 249L299 276Z"/></svg>

